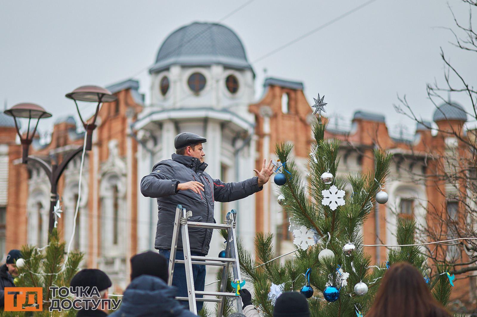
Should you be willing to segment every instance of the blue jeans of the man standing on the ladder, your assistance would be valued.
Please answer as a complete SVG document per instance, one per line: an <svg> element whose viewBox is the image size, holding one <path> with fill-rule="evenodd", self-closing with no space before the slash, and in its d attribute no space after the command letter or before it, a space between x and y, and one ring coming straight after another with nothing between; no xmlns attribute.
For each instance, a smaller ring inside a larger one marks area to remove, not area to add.
<svg viewBox="0 0 477 317"><path fill-rule="evenodd" d="M159 254L164 256L169 262L169 257L171 255L171 250L159 249ZM191 251L190 255L196 257L204 257L205 255L200 252ZM176 251L176 260L183 260L184 259L184 252L177 250ZM194 275L194 289L196 291L204 291L205 283L206 283L206 266L205 265L192 265L192 273ZM176 263L174 267L174 276L172 277L172 285L177 287L178 292L177 296L179 297L188 297L187 295L187 279L186 279L186 267L184 264ZM202 295L196 295L196 297L203 297ZM179 301L184 306L189 307L189 303L187 301L181 300ZM204 306L204 302L197 301L197 312L202 309Z"/></svg>

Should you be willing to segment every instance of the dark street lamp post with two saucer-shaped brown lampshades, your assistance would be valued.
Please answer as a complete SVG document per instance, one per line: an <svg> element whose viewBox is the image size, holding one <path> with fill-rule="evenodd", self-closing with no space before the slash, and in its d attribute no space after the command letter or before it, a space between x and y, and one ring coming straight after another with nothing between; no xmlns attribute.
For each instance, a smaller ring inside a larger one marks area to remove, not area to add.
<svg viewBox="0 0 477 317"><path fill-rule="evenodd" d="M76 105L76 110L78 111L78 115L83 123L83 127L86 130L86 145L85 150L89 151L92 148L92 138L93 138L93 130L96 129L96 118L98 116L99 107L102 102L111 102L116 100L116 96L112 95L109 90L98 87L98 86L82 86L77 89L74 89L72 92L66 94L67 98L73 99ZM91 122L88 120L85 122L83 117L81 116L80 109L78 107L77 100L79 101L89 101L89 102L97 102L98 105L96 106L96 112L94 113L93 119ZM79 147L68 153L62 160L60 164L53 162L51 165L42 160L41 158L37 158L34 156L29 156L29 148L31 141L36 132L36 128L38 127L38 122L42 118L49 118L52 115L48 113L45 109L41 106L33 104L33 103L20 103L17 104L10 109L4 111L5 114L12 116L15 121L15 128L17 129L18 136L21 140L21 162L23 164L28 163L29 161L36 162L46 173L48 179L50 180L51 190L50 190L50 218L48 224L48 232L52 232L54 228L54 207L56 205L56 201L58 200L58 180L63 174L64 169L71 162L71 160L76 156L76 154L81 153L83 151L83 146ZM28 130L26 133L26 137L21 135L20 128L17 124L17 118L26 118L28 119ZM35 124L35 128L33 132L30 133L30 122L31 119L37 119Z"/></svg>

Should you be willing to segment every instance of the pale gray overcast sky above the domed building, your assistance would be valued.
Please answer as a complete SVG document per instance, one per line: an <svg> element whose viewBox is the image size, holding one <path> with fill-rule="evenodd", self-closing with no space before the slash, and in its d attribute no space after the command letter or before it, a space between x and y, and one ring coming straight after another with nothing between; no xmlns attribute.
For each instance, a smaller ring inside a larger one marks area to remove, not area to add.
<svg viewBox="0 0 477 317"><path fill-rule="evenodd" d="M147 72L166 36L193 21L217 22L247 0L49 0L0 3L0 101L8 107L34 102L53 120L75 114L65 93L84 84L107 86L134 77L149 102ZM397 95L432 119L425 85L442 82L442 47L471 83L477 81L475 53L453 48L454 27L445 0L376 0L270 57L263 55L319 27L363 0L252 0L221 21L242 40L256 77L256 96L267 76L299 80L312 104L325 95L327 113L350 123L357 109L382 113L390 132L415 124L397 115ZM448 5L462 22L468 7ZM464 96L452 96L471 111Z"/></svg>

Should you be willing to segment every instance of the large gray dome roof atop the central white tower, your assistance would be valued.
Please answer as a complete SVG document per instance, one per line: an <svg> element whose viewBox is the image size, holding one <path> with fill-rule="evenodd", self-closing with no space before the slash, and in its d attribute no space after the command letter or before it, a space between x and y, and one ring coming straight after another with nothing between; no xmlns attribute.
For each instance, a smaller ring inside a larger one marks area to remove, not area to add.
<svg viewBox="0 0 477 317"><path fill-rule="evenodd" d="M222 64L231 68L252 69L237 34L218 23L194 22L172 32L162 43L156 64L149 72L159 72L174 64Z"/></svg>

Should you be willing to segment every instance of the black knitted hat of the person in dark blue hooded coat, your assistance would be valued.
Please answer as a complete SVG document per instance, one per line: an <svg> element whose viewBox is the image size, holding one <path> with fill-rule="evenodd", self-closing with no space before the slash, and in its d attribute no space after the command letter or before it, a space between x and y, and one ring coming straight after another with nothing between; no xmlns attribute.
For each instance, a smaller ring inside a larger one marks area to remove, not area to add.
<svg viewBox="0 0 477 317"><path fill-rule="evenodd" d="M159 253L147 251L131 258L131 280L141 275L159 277L167 283L167 260Z"/></svg>

